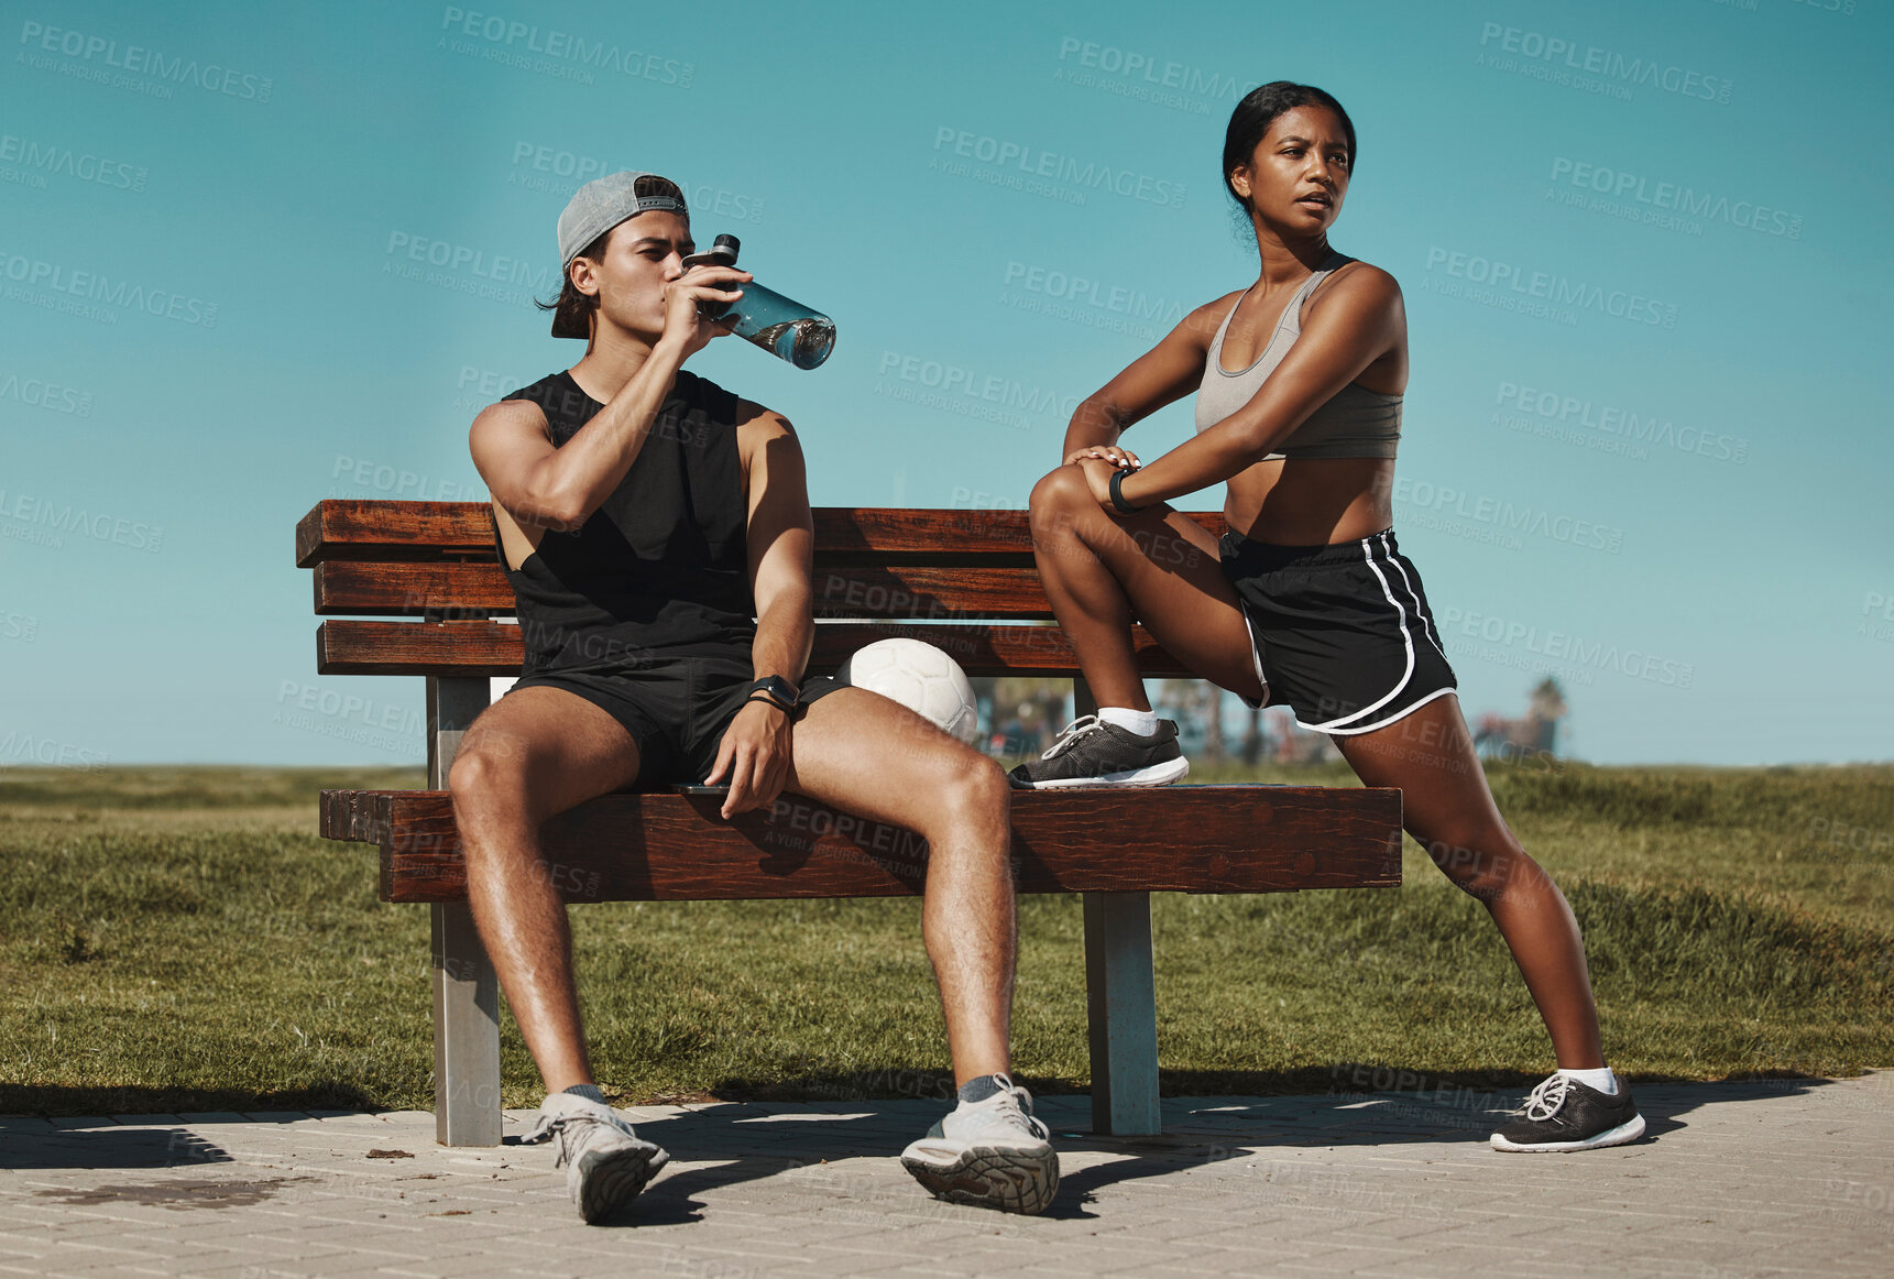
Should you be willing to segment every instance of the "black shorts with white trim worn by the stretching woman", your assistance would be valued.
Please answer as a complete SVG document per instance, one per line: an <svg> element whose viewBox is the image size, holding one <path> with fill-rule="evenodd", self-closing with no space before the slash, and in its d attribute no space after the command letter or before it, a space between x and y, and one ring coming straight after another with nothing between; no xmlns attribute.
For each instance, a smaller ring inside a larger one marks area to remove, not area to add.
<svg viewBox="0 0 1894 1279"><path fill-rule="evenodd" d="M1263 699L1286 701L1303 728L1366 733L1456 688L1420 572L1392 529L1331 546L1225 532L1218 551L1242 601Z"/></svg>

